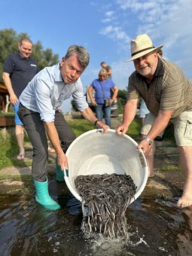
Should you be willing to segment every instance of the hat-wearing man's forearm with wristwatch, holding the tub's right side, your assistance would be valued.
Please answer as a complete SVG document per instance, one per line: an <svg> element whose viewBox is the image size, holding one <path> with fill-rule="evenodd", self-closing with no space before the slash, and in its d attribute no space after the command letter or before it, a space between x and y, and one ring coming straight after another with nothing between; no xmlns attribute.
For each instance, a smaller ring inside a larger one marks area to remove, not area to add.
<svg viewBox="0 0 192 256"><path fill-rule="evenodd" d="M148 151L149 146L153 140L165 130L170 118L172 117L173 111L159 111L154 124L151 126L151 130L145 139L139 143L138 148L142 148L143 151Z"/></svg>

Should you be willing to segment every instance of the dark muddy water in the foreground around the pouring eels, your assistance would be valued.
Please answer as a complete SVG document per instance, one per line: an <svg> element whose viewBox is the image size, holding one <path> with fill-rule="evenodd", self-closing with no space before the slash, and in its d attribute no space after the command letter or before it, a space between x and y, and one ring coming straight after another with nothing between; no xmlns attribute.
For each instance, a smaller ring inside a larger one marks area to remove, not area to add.
<svg viewBox="0 0 192 256"><path fill-rule="evenodd" d="M84 237L80 204L59 186L51 190L58 212L34 195L0 196L0 255L192 255L192 210L178 209L178 198L139 197L126 211L130 239L103 239Z"/></svg>

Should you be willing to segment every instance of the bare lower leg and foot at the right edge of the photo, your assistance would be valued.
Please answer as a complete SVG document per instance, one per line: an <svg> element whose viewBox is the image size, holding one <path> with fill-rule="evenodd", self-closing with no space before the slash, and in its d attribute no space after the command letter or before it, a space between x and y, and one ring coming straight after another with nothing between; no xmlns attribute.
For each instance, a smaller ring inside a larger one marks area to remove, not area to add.
<svg viewBox="0 0 192 256"><path fill-rule="evenodd" d="M192 147L178 147L178 150L184 173L184 188L177 205L184 208L192 205Z"/></svg>

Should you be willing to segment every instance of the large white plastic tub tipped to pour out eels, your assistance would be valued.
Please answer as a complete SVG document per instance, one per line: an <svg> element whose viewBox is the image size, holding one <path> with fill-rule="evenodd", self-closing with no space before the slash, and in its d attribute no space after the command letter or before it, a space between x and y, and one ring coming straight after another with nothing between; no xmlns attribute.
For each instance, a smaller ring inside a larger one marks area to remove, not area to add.
<svg viewBox="0 0 192 256"><path fill-rule="evenodd" d="M133 203L144 190L148 180L148 166L142 150L136 151L137 143L130 136L118 136L115 130L90 130L78 136L69 146L66 156L69 176L65 181L74 197L82 201L75 187L78 175L117 173L130 175L137 186Z"/></svg>

